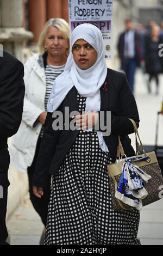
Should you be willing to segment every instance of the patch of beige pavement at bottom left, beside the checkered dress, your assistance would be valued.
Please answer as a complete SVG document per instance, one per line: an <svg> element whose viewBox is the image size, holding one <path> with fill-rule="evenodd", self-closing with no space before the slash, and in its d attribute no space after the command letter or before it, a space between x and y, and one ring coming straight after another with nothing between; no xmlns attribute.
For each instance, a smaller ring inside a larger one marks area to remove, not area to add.
<svg viewBox="0 0 163 256"><path fill-rule="evenodd" d="M7 220L7 228L10 245L39 245L44 226L30 202L29 193Z"/></svg>

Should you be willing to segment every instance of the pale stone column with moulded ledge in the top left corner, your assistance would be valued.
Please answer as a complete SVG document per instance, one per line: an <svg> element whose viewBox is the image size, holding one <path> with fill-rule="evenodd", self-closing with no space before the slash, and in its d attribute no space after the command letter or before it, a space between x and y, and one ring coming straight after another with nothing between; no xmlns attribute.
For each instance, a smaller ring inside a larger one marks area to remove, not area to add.
<svg viewBox="0 0 163 256"><path fill-rule="evenodd" d="M24 0L1 0L0 43L4 50L14 54L24 62L23 42L33 37L33 34L23 27Z"/></svg>

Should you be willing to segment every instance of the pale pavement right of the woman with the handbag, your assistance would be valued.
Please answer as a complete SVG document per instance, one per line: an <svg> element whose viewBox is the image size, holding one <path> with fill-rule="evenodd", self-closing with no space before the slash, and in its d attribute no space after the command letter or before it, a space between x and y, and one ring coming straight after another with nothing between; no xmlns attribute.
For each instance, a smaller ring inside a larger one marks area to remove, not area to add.
<svg viewBox="0 0 163 256"><path fill-rule="evenodd" d="M163 100L163 76L160 76L160 93L155 95L155 83L152 94L148 94L145 77L137 71L135 81L135 99L140 114L139 135L143 145L155 145L156 118ZM163 115L159 117L158 145L163 145ZM134 135L130 136L134 144ZM163 185L163 184L162 184ZM142 245L163 245L163 199L143 207L140 212L138 236Z"/></svg>

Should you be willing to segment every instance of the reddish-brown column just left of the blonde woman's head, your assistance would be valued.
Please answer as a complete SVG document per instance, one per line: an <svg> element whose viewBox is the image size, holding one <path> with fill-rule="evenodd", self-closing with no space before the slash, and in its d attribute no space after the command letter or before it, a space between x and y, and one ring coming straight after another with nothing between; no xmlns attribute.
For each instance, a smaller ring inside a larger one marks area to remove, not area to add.
<svg viewBox="0 0 163 256"><path fill-rule="evenodd" d="M28 0L29 31L34 34L31 42L37 43L46 23L46 0Z"/></svg>

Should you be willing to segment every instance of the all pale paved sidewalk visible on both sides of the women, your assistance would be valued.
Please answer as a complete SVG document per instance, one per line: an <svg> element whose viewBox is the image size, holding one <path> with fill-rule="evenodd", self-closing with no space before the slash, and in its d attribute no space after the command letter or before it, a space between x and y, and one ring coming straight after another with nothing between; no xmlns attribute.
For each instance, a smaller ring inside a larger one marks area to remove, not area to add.
<svg viewBox="0 0 163 256"><path fill-rule="evenodd" d="M139 134L144 145L154 145L156 114L161 109L163 100L163 76L160 83L160 94L155 95L154 83L152 94L147 93L145 77L141 71L136 73L135 99L140 114ZM163 115L160 117L159 144L163 145ZM132 144L135 143L134 135L131 135ZM134 146L135 147L135 146ZM163 185L163 184L162 184ZM140 227L138 236L142 245L163 245L163 200L145 206L140 212ZM39 245L43 230L39 215L34 211L26 195L22 203L7 221L10 245Z"/></svg>

